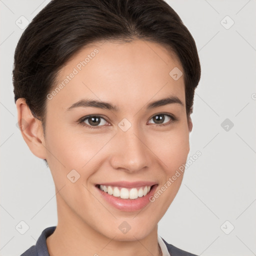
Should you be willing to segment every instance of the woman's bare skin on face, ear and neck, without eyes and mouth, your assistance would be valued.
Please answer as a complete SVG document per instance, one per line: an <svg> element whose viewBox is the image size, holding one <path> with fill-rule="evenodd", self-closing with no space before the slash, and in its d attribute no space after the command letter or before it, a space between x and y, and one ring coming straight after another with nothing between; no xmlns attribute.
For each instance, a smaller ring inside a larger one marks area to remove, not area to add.
<svg viewBox="0 0 256 256"><path fill-rule="evenodd" d="M95 57L47 99L45 137L41 122L32 116L24 99L16 101L18 120L27 122L21 134L31 152L47 160L55 183L58 223L46 239L49 254L160 255L157 223L174 199L183 174L154 202L132 212L109 205L94 184L147 180L155 181L159 188L186 162L192 122L185 111L184 79L183 75L178 80L169 75L174 67L182 70L182 66L157 43L109 41L75 54L58 73L56 85L95 48L99 50ZM146 109L147 103L167 95L178 97L183 105ZM83 98L107 101L119 111L96 107L66 110ZM178 120L164 115L162 123L169 124L159 126L152 117L162 112ZM77 123L89 114L103 117L98 128ZM131 123L127 131L118 126L123 118ZM72 169L80 174L74 183L66 176ZM131 226L125 234L118 229L123 221Z"/></svg>

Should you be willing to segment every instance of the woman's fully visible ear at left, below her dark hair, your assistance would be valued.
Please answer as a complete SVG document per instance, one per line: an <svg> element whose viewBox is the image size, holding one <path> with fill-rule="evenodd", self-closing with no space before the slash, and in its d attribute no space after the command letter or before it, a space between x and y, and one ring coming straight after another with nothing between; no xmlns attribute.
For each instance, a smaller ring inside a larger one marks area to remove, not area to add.
<svg viewBox="0 0 256 256"><path fill-rule="evenodd" d="M32 115L24 98L16 100L16 108L19 129L30 151L35 156L46 159L46 147L41 121Z"/></svg>

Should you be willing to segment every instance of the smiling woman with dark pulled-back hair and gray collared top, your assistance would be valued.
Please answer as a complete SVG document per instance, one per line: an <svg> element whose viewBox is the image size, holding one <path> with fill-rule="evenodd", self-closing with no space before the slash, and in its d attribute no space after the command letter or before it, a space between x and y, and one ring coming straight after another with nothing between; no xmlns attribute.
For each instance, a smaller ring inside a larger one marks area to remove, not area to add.
<svg viewBox="0 0 256 256"><path fill-rule="evenodd" d="M21 134L49 166L58 223L22 255L194 255L157 223L189 152L195 42L163 0L52 0L17 44Z"/></svg>

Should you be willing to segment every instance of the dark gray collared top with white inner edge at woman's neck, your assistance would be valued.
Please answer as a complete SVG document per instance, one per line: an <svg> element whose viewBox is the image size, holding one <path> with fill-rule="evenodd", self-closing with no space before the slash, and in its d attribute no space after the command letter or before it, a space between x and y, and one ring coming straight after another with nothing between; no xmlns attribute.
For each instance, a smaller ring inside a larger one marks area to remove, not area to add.
<svg viewBox="0 0 256 256"><path fill-rule="evenodd" d="M48 248L46 245L46 238L50 236L56 226L50 226L45 228L40 234L39 238L36 241L35 245L32 245L25 252L23 252L20 256L49 256ZM162 239L162 240L160 240ZM172 244L167 243L163 238L158 235L158 243L162 250L162 255L166 255L169 252L170 256L197 256L195 254L189 253L187 251L181 250Z"/></svg>

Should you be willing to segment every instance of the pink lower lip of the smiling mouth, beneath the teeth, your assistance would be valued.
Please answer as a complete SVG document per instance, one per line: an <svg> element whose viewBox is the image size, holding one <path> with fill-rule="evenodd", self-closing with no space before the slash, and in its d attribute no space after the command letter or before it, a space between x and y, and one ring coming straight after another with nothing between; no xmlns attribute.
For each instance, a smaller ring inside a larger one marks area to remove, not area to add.
<svg viewBox="0 0 256 256"><path fill-rule="evenodd" d="M98 187L96 188L101 196L115 208L123 211L135 211L142 209L150 202L149 197L154 193L156 187L157 184L153 185L153 187L151 187L151 190L146 195L138 197L136 199L118 198L100 190Z"/></svg>

